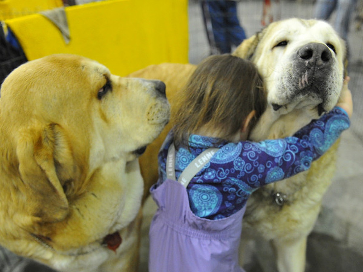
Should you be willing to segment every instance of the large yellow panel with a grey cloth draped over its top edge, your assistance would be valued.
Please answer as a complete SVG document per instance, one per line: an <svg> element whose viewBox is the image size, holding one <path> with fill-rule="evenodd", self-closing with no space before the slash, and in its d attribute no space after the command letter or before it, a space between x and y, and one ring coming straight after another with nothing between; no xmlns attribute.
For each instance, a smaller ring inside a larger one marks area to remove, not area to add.
<svg viewBox="0 0 363 272"><path fill-rule="evenodd" d="M187 0L109 0L66 7L70 42L39 14L5 21L28 60L71 53L126 75L150 64L188 62Z"/></svg>

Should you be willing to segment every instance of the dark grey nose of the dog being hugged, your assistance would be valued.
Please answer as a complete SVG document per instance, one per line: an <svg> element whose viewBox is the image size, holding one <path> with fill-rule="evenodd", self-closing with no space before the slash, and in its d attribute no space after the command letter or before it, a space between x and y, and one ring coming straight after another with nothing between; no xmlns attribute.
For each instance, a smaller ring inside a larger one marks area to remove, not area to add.
<svg viewBox="0 0 363 272"><path fill-rule="evenodd" d="M329 48L325 44L316 42L303 46L298 50L297 54L302 61L307 62L306 65L313 62L318 67L325 66L332 59Z"/></svg>

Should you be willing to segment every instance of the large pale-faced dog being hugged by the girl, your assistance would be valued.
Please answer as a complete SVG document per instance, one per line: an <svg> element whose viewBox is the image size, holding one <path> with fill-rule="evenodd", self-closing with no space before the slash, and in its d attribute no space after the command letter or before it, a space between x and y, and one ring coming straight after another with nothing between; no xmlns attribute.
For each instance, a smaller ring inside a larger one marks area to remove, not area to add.
<svg viewBox="0 0 363 272"><path fill-rule="evenodd" d="M291 136L337 103L346 47L326 22L297 18L274 22L242 42L233 54L256 64L268 92L268 109L254 128L251 140ZM165 63L132 75L163 80L172 106L178 99L175 90L194 69L190 64ZM276 115L272 127L264 125ZM157 179L157 150L171 126L172 120L152 148L140 157L146 189ZM242 236L250 233L271 241L281 272L304 271L306 238L331 183L336 149L337 144L309 171L256 191L247 203Z"/></svg>

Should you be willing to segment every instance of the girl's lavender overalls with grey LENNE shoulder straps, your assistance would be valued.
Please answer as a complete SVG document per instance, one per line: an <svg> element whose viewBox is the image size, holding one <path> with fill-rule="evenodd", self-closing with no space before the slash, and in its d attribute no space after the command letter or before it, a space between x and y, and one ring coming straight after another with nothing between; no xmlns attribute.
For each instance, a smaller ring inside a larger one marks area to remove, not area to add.
<svg viewBox="0 0 363 272"><path fill-rule="evenodd" d="M197 165L195 169L185 169L176 181L174 145L172 148L173 151L168 153L168 178L159 187L151 189L159 209L150 226L150 244L158 245L162 250L152 247L149 271L244 271L238 265L238 246L246 207L219 220L194 215L189 208L185 187L192 176L209 162L210 157L203 156L203 153L197 156L193 161ZM204 154L208 154L208 150ZM198 159L201 164L197 162Z"/></svg>

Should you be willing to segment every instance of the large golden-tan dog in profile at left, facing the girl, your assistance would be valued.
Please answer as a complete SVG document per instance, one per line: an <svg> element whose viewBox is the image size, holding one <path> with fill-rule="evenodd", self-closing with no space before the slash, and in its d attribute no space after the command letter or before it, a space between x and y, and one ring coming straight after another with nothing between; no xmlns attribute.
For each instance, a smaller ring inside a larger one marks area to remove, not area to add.
<svg viewBox="0 0 363 272"><path fill-rule="evenodd" d="M170 116L160 81L50 55L1 87L0 244L59 271L136 271L137 157Z"/></svg>

